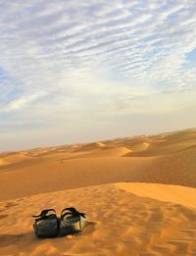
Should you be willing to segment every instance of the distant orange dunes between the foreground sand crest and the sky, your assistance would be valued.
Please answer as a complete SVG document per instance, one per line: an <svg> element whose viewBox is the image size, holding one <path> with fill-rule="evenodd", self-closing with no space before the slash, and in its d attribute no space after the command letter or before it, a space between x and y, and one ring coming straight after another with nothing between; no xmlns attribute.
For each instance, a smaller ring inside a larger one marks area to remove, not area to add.
<svg viewBox="0 0 196 256"><path fill-rule="evenodd" d="M196 129L0 155L0 200L119 181L196 187Z"/></svg>

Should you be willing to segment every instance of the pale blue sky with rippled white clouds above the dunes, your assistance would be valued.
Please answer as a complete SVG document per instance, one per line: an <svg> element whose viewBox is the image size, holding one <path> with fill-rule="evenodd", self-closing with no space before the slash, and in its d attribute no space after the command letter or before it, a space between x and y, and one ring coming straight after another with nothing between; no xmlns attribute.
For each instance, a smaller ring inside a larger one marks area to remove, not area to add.
<svg viewBox="0 0 196 256"><path fill-rule="evenodd" d="M195 13L195 0L0 0L0 151L196 127Z"/></svg>

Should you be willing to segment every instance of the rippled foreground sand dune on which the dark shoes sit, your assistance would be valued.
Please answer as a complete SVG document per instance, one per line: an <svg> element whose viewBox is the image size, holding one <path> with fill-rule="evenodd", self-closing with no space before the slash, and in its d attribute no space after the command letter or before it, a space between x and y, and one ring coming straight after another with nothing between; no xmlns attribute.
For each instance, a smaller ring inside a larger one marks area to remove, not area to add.
<svg viewBox="0 0 196 256"><path fill-rule="evenodd" d="M163 202L161 191L168 189L168 185L119 183L1 202L0 255L196 255L196 208L179 204L190 193L195 198L196 188L186 188L184 194L184 187L170 186L175 197L166 193L167 202ZM146 191L148 197L135 195ZM157 199L152 198L155 194ZM49 207L60 213L65 206L87 213L86 230L79 235L37 239L31 215Z"/></svg>

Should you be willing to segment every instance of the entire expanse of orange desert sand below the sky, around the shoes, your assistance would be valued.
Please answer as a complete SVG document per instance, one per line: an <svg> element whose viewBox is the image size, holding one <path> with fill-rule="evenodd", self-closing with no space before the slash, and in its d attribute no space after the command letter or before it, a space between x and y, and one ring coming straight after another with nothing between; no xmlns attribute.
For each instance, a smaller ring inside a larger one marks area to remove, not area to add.
<svg viewBox="0 0 196 256"><path fill-rule="evenodd" d="M196 129L0 155L0 255L196 255ZM31 215L88 226L38 239Z"/></svg>

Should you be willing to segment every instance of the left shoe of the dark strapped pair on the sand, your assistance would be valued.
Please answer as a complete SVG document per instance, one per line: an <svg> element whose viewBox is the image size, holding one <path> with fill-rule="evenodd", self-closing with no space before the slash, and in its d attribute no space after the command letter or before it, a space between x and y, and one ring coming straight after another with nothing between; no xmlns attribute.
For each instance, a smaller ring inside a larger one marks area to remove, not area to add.
<svg viewBox="0 0 196 256"><path fill-rule="evenodd" d="M59 219L54 209L43 210L39 215L33 215L33 228L35 234L40 237L54 237L58 235Z"/></svg>

